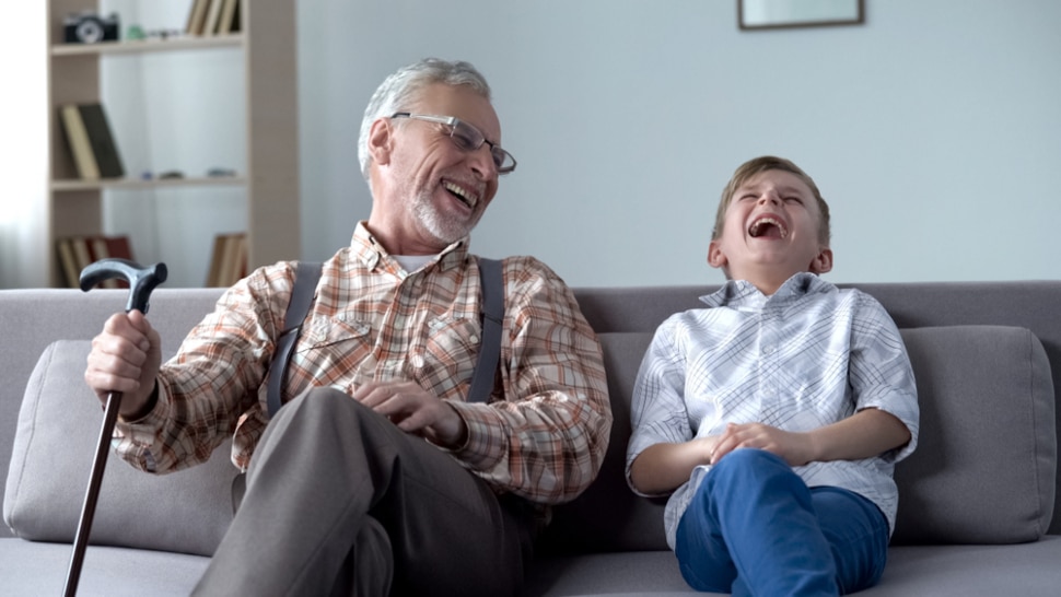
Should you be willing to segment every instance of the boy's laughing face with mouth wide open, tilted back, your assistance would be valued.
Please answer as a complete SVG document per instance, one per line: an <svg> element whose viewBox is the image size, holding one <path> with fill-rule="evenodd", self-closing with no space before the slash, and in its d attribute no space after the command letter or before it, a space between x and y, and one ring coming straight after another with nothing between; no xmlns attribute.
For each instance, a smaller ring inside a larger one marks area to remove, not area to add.
<svg viewBox="0 0 1061 597"><path fill-rule="evenodd" d="M832 269L832 251L819 239L820 216L814 192L798 176L759 173L733 194L708 262L769 292L801 271L825 273Z"/></svg>

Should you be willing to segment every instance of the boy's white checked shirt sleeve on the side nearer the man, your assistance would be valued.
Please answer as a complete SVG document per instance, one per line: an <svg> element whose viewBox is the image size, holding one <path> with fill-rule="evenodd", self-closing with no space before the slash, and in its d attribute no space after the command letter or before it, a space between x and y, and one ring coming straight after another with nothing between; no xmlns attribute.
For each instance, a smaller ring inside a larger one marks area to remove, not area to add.
<svg viewBox="0 0 1061 597"><path fill-rule="evenodd" d="M652 338L638 370L630 406L630 442L627 445L627 484L639 495L630 480L630 467L649 446L692 440L685 407L685 355L675 333L678 316L664 321Z"/></svg>

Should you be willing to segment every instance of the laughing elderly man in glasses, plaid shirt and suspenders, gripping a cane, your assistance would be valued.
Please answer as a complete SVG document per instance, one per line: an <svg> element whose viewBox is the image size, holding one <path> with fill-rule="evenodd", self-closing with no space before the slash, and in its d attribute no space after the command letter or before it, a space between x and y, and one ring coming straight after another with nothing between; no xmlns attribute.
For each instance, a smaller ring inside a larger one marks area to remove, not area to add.
<svg viewBox="0 0 1061 597"><path fill-rule="evenodd" d="M548 506L604 459L599 344L532 257L502 262L500 364L489 399L468 400L482 337L468 234L515 168L482 75L399 69L359 152L372 211L320 270L275 417L294 262L229 289L164 365L139 312L93 342L85 381L101 400L124 393L116 445L133 466L188 467L233 437L246 493L198 594L515 594Z"/></svg>

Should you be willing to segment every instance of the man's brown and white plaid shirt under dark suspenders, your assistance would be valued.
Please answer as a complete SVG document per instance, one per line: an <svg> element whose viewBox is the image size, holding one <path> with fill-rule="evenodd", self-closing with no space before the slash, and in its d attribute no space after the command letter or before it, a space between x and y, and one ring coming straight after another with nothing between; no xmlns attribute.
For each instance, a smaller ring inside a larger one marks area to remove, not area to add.
<svg viewBox="0 0 1061 597"><path fill-rule="evenodd" d="M268 424L266 379L294 264L256 270L228 290L159 375L159 402L117 425L119 454L153 472L205 461L234 434L246 469ZM601 347L570 290L532 257L504 259L501 364L489 403L468 403L479 350L479 271L467 238L406 272L359 224L324 264L288 370L283 399L314 386L411 379L448 400L468 426L450 454L499 492L552 504L581 493L611 425Z"/></svg>

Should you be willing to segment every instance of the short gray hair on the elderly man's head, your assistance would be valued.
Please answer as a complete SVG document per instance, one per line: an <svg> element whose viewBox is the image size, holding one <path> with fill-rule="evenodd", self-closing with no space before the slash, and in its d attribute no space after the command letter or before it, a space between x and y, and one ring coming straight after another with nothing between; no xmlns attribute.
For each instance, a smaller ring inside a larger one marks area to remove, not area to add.
<svg viewBox="0 0 1061 597"><path fill-rule="evenodd" d="M434 83L467 85L490 101L490 85L469 62L424 58L398 69L372 94L369 106L364 109L364 119L361 120L358 159L361 162L361 175L365 180L369 179L369 163L372 160L369 155L369 130L372 128L372 122L380 117L409 109L410 104L420 98L420 92Z"/></svg>

